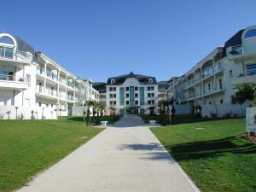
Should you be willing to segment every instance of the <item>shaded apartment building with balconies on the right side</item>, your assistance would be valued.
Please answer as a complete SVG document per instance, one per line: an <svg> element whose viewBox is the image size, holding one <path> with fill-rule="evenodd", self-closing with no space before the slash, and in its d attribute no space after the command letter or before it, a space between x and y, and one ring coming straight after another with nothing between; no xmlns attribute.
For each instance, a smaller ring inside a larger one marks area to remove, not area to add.
<svg viewBox="0 0 256 192"><path fill-rule="evenodd" d="M206 116L218 108L223 111L219 116L244 114L245 108L232 105L232 97L236 84L256 82L256 26L236 32L224 47L214 49L183 76L168 82L168 96L174 96L177 104L200 104Z"/></svg>

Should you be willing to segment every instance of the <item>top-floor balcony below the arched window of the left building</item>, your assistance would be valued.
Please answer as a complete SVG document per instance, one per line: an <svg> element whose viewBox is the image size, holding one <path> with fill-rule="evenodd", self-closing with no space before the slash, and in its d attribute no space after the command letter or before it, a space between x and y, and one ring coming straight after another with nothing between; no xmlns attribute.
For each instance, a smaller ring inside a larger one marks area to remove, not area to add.
<svg viewBox="0 0 256 192"><path fill-rule="evenodd" d="M7 61L31 62L32 53L14 50L9 47L5 47L1 45L0 59L7 60Z"/></svg>

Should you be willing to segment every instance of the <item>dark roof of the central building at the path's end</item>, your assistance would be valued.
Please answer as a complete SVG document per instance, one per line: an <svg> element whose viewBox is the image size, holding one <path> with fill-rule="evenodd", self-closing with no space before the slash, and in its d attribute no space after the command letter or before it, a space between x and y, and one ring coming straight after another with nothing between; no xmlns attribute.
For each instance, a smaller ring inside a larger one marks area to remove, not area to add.
<svg viewBox="0 0 256 192"><path fill-rule="evenodd" d="M143 84L148 84L148 79L153 79L152 84L157 84L155 77L152 76L146 76L146 75L141 75L141 74L135 74L133 72L125 75L120 75L112 78L108 78L107 84L111 84L111 79L115 80L114 84L123 84L125 82L125 79L127 78L136 78L140 83Z"/></svg>

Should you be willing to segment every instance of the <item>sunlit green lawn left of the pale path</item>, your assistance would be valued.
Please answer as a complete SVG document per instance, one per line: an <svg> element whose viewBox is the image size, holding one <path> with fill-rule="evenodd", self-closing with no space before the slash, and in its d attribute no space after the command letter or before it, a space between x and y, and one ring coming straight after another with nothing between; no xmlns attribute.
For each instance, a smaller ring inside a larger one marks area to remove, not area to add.
<svg viewBox="0 0 256 192"><path fill-rule="evenodd" d="M12 191L102 129L82 121L0 120L0 191Z"/></svg>

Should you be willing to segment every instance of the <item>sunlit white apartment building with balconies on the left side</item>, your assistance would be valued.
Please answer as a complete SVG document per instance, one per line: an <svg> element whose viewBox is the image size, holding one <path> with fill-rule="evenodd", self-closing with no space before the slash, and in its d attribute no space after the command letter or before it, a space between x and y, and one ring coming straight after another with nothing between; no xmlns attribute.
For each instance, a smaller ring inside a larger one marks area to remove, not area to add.
<svg viewBox="0 0 256 192"><path fill-rule="evenodd" d="M91 79L79 79L22 39L0 33L0 118L55 119L99 100Z"/></svg>

